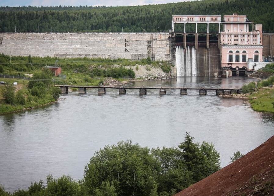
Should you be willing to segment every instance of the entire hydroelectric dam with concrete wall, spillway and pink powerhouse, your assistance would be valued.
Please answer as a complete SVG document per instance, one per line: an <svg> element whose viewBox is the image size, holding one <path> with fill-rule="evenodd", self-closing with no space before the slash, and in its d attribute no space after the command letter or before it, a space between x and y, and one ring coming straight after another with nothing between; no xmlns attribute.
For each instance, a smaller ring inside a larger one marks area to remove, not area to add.
<svg viewBox="0 0 274 196"><path fill-rule="evenodd" d="M170 32L2 32L0 53L11 56L125 58L170 61L172 76L245 75L273 54L273 34L245 15L172 16ZM263 50L263 46L265 49ZM271 58L270 58L271 59Z"/></svg>

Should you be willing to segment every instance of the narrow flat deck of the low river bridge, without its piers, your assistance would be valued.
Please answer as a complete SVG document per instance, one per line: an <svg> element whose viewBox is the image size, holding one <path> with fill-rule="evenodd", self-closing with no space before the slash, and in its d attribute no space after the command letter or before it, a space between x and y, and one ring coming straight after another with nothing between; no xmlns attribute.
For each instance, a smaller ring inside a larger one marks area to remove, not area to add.
<svg viewBox="0 0 274 196"><path fill-rule="evenodd" d="M55 85L57 87L68 87L68 88L106 88L106 89L171 89L171 90L180 90L180 89L187 89L187 90L241 90L243 88L204 88L204 87L146 87L146 86L74 86L74 85Z"/></svg>

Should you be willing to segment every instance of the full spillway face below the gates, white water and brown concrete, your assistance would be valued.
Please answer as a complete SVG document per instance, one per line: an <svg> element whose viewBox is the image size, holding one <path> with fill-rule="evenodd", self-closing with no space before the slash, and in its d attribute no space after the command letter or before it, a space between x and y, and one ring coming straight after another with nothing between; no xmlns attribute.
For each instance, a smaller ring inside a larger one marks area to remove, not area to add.
<svg viewBox="0 0 274 196"><path fill-rule="evenodd" d="M218 46L210 49L199 46L176 46L177 76L213 76L221 70L220 51ZM220 73L219 73L220 74Z"/></svg>

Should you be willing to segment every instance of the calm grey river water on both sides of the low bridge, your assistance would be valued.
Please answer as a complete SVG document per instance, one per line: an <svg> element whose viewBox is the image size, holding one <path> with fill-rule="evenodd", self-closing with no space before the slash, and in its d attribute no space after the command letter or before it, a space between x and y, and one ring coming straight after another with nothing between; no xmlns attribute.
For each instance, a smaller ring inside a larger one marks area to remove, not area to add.
<svg viewBox="0 0 274 196"><path fill-rule="evenodd" d="M240 87L253 79L185 77L167 81L135 82L135 86ZM233 152L244 154L274 135L273 115L252 111L248 103L224 99L208 91L97 89L62 96L58 103L0 116L0 184L7 191L27 188L46 175L68 174L81 179L95 151L107 144L132 139L142 146L177 146L186 131L196 142L212 142L222 167Z"/></svg>

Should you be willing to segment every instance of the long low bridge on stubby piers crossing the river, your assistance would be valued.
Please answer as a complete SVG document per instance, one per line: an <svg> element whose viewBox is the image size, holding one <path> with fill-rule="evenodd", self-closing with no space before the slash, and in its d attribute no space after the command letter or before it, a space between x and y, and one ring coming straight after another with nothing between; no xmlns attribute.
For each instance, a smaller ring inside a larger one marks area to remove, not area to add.
<svg viewBox="0 0 274 196"><path fill-rule="evenodd" d="M166 94L166 90L180 90L181 95L187 95L188 90L199 90L199 95L206 95L207 90L215 90L216 95L228 95L243 93L242 88L204 88L204 87L136 87L136 86L74 86L74 85L56 85L60 87L62 93L68 93L69 88L78 88L78 93L86 93L88 88L97 88L98 94L105 94L106 89L118 89L119 94L126 94L126 89L139 89L140 95L145 95L147 89L159 89L160 95Z"/></svg>

